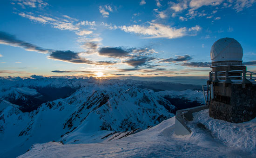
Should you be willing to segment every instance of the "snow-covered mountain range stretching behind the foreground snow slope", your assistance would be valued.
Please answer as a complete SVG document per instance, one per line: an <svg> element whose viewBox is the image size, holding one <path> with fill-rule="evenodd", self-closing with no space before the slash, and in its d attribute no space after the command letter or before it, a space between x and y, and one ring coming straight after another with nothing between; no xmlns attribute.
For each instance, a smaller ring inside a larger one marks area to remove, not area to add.
<svg viewBox="0 0 256 158"><path fill-rule="evenodd" d="M0 78L2 157L18 156L34 143L95 143L147 129L174 116L171 96L203 103L198 90L155 92L133 80L34 77Z"/></svg>

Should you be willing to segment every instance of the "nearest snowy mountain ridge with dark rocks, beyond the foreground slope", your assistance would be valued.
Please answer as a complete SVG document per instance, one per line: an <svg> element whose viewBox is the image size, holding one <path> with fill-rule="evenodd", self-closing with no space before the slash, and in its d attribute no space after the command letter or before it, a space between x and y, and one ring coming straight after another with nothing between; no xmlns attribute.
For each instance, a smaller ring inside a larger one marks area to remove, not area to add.
<svg viewBox="0 0 256 158"><path fill-rule="evenodd" d="M109 131L146 129L174 116L175 108L154 91L123 81L87 82L69 97L43 103L30 113L2 107L0 147L5 157L24 153L34 143L84 143L93 141L87 137L95 133L103 137Z"/></svg>

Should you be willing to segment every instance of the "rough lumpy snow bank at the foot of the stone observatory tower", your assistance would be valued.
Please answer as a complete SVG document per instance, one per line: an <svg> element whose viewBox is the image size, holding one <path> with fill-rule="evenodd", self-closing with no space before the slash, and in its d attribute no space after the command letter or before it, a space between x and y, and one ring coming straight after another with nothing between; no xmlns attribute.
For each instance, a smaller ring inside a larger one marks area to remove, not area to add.
<svg viewBox="0 0 256 158"><path fill-rule="evenodd" d="M243 123L230 123L213 119L209 117L208 112L209 109L194 113L192 125L200 122L206 126L206 131L209 131L212 137L219 139L223 144L256 154L256 118ZM191 127L193 132L199 129Z"/></svg>

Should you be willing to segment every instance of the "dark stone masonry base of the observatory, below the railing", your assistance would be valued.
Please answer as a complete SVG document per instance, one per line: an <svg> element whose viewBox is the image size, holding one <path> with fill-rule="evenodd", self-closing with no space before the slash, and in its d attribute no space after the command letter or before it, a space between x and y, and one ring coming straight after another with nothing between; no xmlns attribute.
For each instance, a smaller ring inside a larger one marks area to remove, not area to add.
<svg viewBox="0 0 256 158"><path fill-rule="evenodd" d="M214 99L209 104L209 116L240 123L256 117L256 85L214 84Z"/></svg>

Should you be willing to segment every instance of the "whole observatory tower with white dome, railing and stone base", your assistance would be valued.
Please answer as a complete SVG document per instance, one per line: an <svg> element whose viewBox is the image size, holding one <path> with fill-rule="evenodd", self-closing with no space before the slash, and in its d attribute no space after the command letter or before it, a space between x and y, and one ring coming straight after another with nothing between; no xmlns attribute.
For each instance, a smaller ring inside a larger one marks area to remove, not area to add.
<svg viewBox="0 0 256 158"><path fill-rule="evenodd" d="M254 119L256 74L243 65L241 44L234 38L221 38L212 45L210 56L209 116L233 123Z"/></svg>

